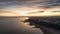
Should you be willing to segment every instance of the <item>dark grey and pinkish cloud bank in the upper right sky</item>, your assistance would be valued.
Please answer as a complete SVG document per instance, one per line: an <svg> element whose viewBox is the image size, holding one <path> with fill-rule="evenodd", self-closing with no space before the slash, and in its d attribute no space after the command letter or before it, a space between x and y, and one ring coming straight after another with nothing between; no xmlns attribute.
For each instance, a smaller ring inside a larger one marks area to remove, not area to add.
<svg viewBox="0 0 60 34"><path fill-rule="evenodd" d="M53 8L55 6L60 6L60 0L49 0L45 2L31 2L28 3L29 6L36 6L42 8Z"/></svg>

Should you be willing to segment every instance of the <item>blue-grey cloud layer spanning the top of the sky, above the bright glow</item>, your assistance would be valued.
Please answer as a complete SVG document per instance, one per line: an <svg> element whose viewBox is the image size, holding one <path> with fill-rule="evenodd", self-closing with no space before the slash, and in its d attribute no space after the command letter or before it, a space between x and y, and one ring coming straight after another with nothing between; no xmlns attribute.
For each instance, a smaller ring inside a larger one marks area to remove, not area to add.
<svg viewBox="0 0 60 34"><path fill-rule="evenodd" d="M60 0L0 0L0 7L12 6L27 6L37 8L58 8L60 7ZM2 5L3 4L3 5Z"/></svg>

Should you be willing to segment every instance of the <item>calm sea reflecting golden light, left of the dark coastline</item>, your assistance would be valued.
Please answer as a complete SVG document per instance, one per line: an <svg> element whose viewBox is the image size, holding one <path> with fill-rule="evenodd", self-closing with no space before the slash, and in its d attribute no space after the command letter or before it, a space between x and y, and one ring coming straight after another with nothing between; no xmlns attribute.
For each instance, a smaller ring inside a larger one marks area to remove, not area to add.
<svg viewBox="0 0 60 34"><path fill-rule="evenodd" d="M12 18L0 17L0 34L1 33L19 33L19 34L43 34L38 28L32 28L29 23L23 23L27 17Z"/></svg>

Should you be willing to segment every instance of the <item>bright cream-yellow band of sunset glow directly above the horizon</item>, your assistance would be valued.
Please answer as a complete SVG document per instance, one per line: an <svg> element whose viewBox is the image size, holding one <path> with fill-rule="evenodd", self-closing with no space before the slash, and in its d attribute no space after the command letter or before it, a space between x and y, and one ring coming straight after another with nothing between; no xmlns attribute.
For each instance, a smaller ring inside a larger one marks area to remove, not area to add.
<svg viewBox="0 0 60 34"><path fill-rule="evenodd" d="M49 9L25 8L8 9L7 11L11 11L11 13L0 13L0 16L60 16L60 12L53 12L59 9L50 9L49 11ZM44 12L41 13L40 11Z"/></svg>

